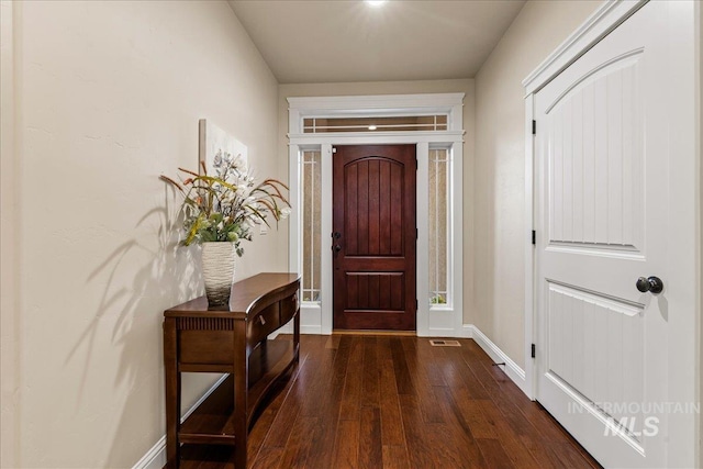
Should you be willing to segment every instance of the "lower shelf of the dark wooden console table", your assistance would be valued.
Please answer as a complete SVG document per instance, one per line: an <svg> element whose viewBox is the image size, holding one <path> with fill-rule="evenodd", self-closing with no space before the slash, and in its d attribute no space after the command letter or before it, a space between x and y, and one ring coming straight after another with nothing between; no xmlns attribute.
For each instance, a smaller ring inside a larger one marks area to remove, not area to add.
<svg viewBox="0 0 703 469"><path fill-rule="evenodd" d="M295 362L298 351L299 346L292 340L266 340L252 351L246 410L249 426L274 383ZM182 423L178 440L234 446L234 378L230 375Z"/></svg>

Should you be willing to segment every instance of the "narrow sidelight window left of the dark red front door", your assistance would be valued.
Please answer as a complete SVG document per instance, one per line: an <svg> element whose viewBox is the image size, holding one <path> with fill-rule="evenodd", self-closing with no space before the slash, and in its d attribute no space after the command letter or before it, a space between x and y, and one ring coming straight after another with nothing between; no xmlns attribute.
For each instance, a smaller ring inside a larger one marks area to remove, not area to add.
<svg viewBox="0 0 703 469"><path fill-rule="evenodd" d="M304 150L303 161L303 301L320 302L321 293L321 152Z"/></svg>

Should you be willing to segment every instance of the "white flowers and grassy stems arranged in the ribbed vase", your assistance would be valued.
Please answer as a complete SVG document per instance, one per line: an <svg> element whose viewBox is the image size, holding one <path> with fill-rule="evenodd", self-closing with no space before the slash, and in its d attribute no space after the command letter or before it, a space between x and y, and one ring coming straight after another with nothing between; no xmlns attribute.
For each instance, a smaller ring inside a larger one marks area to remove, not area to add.
<svg viewBox="0 0 703 469"><path fill-rule="evenodd" d="M290 203L283 196L288 187L277 179L265 179L256 183L246 164L239 156L217 152L213 166L215 174L208 175L204 161L200 161L202 174L178 168L186 175L180 182L160 176L183 196L181 211L186 230L186 246L193 243L234 243L239 257L243 239L252 241L252 228L265 223L268 216L278 221L290 213Z"/></svg>

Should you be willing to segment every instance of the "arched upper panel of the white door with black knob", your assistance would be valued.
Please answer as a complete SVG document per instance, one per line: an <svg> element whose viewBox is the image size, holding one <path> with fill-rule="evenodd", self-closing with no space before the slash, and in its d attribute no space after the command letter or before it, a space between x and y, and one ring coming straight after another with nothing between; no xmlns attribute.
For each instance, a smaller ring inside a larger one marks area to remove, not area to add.
<svg viewBox="0 0 703 469"><path fill-rule="evenodd" d="M636 51L602 65L545 110L553 145L551 243L625 252L641 247L641 58Z"/></svg>

